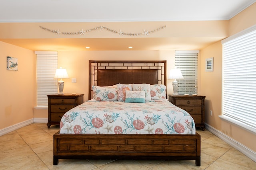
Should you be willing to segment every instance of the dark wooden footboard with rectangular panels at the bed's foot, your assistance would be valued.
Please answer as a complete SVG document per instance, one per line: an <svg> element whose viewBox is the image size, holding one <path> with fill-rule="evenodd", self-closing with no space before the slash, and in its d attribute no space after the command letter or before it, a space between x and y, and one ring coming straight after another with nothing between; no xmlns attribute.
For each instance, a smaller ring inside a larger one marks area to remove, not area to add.
<svg viewBox="0 0 256 170"><path fill-rule="evenodd" d="M200 135L54 134L53 164L59 159L195 160Z"/></svg>

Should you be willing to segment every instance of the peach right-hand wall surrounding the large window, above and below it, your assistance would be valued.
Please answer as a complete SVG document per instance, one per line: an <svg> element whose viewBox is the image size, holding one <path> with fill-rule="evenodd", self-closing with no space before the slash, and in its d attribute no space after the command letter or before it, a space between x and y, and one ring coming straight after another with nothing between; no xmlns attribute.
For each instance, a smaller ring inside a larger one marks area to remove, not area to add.
<svg viewBox="0 0 256 170"><path fill-rule="evenodd" d="M256 24L256 3L229 21L229 35L234 35ZM256 151L256 135L224 121L222 115L222 43L214 43L201 50L201 92L206 96L205 122L230 138ZM214 57L214 71L205 72L205 59ZM210 115L212 110L212 116ZM250 138L250 140L248 140Z"/></svg>

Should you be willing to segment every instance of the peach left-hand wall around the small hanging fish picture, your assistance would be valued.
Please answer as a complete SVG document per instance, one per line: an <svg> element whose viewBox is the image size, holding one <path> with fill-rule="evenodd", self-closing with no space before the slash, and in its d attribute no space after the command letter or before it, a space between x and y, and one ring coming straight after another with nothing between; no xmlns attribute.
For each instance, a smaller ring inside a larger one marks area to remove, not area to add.
<svg viewBox="0 0 256 170"><path fill-rule="evenodd" d="M34 52L0 41L0 129L33 118ZM18 58L18 71L7 70L7 56Z"/></svg>

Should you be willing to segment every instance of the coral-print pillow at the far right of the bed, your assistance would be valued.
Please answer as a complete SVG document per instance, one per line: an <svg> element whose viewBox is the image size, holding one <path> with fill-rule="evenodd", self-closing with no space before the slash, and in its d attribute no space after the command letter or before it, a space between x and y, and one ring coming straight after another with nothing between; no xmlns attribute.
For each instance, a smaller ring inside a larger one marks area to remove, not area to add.
<svg viewBox="0 0 256 170"><path fill-rule="evenodd" d="M150 85L151 100L166 99L166 86L163 84Z"/></svg>

